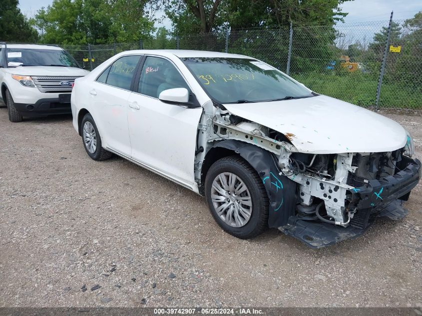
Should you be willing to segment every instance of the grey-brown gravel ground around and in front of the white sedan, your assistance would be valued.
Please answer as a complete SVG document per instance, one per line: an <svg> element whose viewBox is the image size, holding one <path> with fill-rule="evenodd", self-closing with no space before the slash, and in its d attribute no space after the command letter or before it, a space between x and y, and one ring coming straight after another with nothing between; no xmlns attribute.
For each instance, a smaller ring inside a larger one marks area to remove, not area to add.
<svg viewBox="0 0 422 316"><path fill-rule="evenodd" d="M414 135L422 117L383 113ZM422 184L400 222L313 250L224 233L205 199L122 158L95 162L70 116L0 109L1 307L422 307Z"/></svg>

